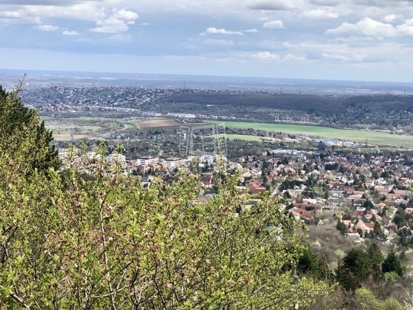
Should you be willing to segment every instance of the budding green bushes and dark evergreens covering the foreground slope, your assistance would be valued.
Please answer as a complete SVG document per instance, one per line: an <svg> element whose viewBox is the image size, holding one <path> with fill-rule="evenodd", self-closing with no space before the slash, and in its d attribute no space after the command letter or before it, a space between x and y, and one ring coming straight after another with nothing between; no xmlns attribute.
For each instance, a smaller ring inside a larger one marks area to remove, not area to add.
<svg viewBox="0 0 413 310"><path fill-rule="evenodd" d="M0 309L412 306L372 293L403 278L399 256L352 249L332 273L277 200L244 208L236 175L207 201L184 172L144 187L102 162L86 177L18 91L0 90L0 128Z"/></svg>

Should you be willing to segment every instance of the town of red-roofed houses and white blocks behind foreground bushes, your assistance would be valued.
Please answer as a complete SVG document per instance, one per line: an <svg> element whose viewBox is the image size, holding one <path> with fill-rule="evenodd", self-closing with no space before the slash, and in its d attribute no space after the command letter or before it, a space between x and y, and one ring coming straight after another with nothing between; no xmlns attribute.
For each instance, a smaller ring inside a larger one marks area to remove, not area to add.
<svg viewBox="0 0 413 310"><path fill-rule="evenodd" d="M390 247L413 245L413 162L406 154L272 149L231 160L222 154L127 160L116 152L102 156L65 148L59 149L59 158L84 174L99 163L107 173L116 166L124 175L140 176L147 186L154 178L173 180L178 169L198 174L204 185L201 199L216 193L224 169L237 176L237 188L249 194L249 203L268 193L289 216L310 227L334 226L351 242L370 238Z"/></svg>

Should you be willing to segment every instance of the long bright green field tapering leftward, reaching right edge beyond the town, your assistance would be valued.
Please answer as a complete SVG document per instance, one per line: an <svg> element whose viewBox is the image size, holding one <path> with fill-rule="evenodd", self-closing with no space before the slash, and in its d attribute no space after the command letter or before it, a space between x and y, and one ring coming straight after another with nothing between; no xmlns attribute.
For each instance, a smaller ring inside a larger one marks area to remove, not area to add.
<svg viewBox="0 0 413 310"><path fill-rule="evenodd" d="M268 123L244 123L244 122L221 122L208 121L239 129L252 128L254 130L267 130L272 132L284 132L286 134L301 134L319 138L338 138L345 141L354 141L375 145L389 145L393 147L413 147L413 136L389 134L387 132L373 132L369 130L342 130L331 127L288 125L288 124L268 124ZM227 135L231 136L231 135Z"/></svg>

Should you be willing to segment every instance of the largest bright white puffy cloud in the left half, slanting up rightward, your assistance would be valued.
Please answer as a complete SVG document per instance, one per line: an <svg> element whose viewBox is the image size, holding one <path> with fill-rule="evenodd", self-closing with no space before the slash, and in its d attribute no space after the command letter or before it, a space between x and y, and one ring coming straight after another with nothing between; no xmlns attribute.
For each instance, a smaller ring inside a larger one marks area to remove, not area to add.
<svg viewBox="0 0 413 310"><path fill-rule="evenodd" d="M127 10L116 10L107 19L96 21L96 28L89 29L92 32L118 34L127 32L129 25L133 25L139 15Z"/></svg>

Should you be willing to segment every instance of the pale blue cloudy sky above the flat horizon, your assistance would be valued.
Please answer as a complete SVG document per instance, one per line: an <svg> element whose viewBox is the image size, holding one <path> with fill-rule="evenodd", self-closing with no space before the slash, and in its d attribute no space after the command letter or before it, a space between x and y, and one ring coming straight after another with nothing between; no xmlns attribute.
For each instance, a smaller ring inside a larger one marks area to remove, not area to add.
<svg viewBox="0 0 413 310"><path fill-rule="evenodd" d="M0 68L413 82L413 0L0 0Z"/></svg>

